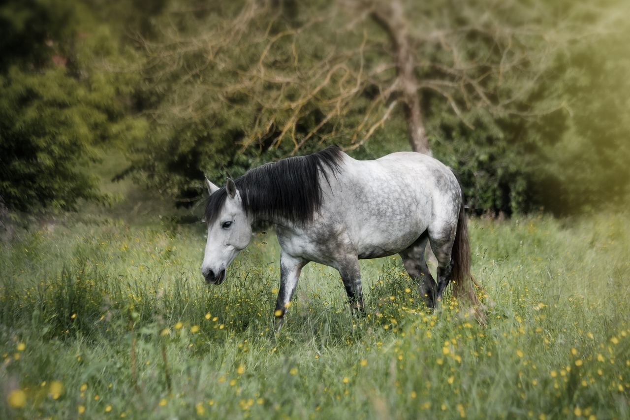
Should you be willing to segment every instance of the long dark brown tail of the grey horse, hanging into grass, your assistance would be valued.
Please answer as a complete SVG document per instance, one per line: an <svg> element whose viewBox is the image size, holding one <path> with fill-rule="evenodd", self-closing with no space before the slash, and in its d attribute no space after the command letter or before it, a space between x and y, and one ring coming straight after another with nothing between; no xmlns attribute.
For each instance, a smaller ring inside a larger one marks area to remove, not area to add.
<svg viewBox="0 0 630 420"><path fill-rule="evenodd" d="M463 198L463 197L462 197ZM459 208L459 218L457 219L457 231L452 250L453 259L453 296L459 300L469 301L472 310L477 315L479 322L485 322L485 315L482 311L481 301L477 296L477 291L482 293L483 288L471 274L471 247L468 240L468 223L466 212L464 211L464 201L462 199Z"/></svg>

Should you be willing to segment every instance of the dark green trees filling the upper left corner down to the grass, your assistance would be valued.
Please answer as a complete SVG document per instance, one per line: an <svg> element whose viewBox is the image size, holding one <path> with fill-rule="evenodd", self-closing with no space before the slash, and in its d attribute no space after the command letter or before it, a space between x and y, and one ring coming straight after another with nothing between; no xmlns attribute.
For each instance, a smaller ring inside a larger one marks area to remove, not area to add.
<svg viewBox="0 0 630 420"><path fill-rule="evenodd" d="M112 71L127 53L80 4L12 2L0 16L0 197L28 213L107 201L89 165L145 131L121 100L137 78Z"/></svg>

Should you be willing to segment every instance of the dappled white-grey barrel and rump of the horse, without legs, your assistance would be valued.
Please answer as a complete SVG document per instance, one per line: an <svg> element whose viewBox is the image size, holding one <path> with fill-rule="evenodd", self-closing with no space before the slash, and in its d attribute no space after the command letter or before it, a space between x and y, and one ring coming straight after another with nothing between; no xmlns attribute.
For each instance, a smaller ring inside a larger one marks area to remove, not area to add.
<svg viewBox="0 0 630 420"><path fill-rule="evenodd" d="M452 216L461 197L457 179L427 155L398 152L371 161L347 157L330 181L332 195L323 216L347 225L362 258L395 254L432 224L457 221Z"/></svg>

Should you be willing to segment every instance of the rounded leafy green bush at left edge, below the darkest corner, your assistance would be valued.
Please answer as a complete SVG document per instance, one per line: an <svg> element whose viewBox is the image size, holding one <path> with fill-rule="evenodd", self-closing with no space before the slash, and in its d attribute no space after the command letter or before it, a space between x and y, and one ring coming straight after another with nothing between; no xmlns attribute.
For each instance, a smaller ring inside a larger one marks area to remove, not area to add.
<svg viewBox="0 0 630 420"><path fill-rule="evenodd" d="M0 76L0 195L10 209L72 209L79 198L99 197L96 178L82 167L98 156L93 145L107 116L88 106L93 92L65 73L12 67Z"/></svg>

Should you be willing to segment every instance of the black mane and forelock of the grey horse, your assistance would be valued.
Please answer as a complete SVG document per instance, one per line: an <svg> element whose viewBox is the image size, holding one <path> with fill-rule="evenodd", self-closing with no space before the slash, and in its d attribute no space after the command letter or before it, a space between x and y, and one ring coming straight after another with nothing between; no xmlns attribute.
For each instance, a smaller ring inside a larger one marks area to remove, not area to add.
<svg viewBox="0 0 630 420"><path fill-rule="evenodd" d="M258 220L284 218L304 224L312 221L321 206L319 175L338 172L343 152L331 146L307 156L286 158L249 170L234 180L245 211ZM227 199L226 187L210 195L205 205L205 222L214 223Z"/></svg>

